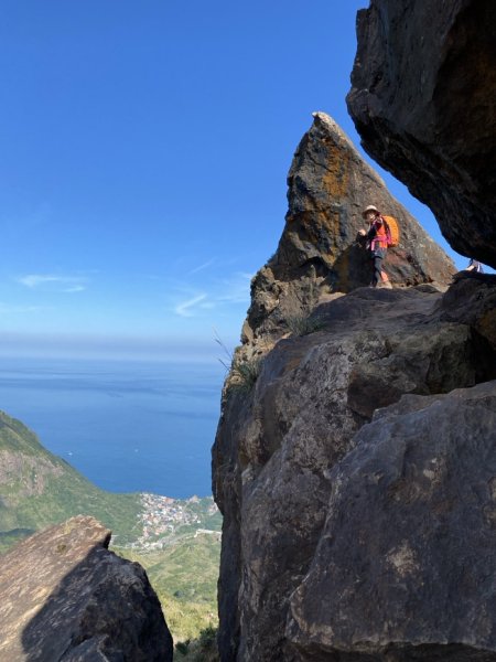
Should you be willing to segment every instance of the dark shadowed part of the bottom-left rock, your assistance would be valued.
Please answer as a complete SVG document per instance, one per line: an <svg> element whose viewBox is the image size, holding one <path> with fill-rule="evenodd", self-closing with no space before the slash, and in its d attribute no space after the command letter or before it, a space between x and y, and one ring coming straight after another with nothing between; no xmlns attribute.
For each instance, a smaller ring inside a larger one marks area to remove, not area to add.
<svg viewBox="0 0 496 662"><path fill-rule="evenodd" d="M173 655L143 568L104 547L63 578L24 628L22 648L26 662L170 662Z"/></svg>

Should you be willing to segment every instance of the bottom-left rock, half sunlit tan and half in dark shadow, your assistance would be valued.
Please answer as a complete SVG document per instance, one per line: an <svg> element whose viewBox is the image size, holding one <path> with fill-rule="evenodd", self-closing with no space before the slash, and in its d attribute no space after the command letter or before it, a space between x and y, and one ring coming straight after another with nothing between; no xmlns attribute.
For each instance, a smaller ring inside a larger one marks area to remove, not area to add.
<svg viewBox="0 0 496 662"><path fill-rule="evenodd" d="M1 660L166 662L172 638L144 570L77 516L1 558Z"/></svg>

